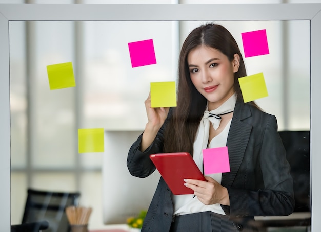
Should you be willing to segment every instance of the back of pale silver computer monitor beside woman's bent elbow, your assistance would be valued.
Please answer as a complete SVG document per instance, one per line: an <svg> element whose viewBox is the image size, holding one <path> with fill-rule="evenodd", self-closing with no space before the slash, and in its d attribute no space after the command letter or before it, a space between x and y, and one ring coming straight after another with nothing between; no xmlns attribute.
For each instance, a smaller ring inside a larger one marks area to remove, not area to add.
<svg viewBox="0 0 321 232"><path fill-rule="evenodd" d="M106 131L103 158L104 224L124 224L126 219L147 210L160 174L157 170L146 178L132 176L127 168L130 146L142 131Z"/></svg>

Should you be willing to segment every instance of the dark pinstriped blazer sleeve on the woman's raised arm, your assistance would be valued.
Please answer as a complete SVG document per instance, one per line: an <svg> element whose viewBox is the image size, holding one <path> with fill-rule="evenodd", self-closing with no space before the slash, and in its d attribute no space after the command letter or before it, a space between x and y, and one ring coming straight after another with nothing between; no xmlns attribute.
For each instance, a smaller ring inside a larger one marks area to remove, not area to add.
<svg viewBox="0 0 321 232"><path fill-rule="evenodd" d="M164 130L167 124L168 118L165 120L163 126L159 129L155 140L145 151L142 152L139 150L141 147L143 134L139 135L137 140L133 143L127 156L127 168L131 175L144 178L155 171L156 167L149 156L151 154L163 152Z"/></svg>

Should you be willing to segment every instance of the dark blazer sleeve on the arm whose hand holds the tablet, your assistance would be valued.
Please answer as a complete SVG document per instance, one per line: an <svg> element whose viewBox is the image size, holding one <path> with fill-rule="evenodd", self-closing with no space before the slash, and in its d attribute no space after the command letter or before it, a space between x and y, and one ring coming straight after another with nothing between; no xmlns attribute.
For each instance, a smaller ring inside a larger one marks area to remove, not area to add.
<svg viewBox="0 0 321 232"><path fill-rule="evenodd" d="M256 138L257 139L257 138ZM277 132L276 118L271 115L257 155L263 184L257 190L228 188L230 206L222 205L230 217L285 216L293 212L294 193L290 165Z"/></svg>

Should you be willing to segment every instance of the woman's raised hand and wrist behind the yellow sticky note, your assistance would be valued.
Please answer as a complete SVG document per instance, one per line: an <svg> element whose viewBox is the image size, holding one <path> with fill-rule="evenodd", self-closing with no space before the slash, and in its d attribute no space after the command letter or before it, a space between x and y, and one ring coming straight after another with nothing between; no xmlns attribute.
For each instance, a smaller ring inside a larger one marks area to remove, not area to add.
<svg viewBox="0 0 321 232"><path fill-rule="evenodd" d="M148 98L145 100L145 108L148 122L143 132L142 143L139 149L141 151L145 151L152 144L157 135L158 130L164 124L169 112L169 107L151 107L150 92Z"/></svg>

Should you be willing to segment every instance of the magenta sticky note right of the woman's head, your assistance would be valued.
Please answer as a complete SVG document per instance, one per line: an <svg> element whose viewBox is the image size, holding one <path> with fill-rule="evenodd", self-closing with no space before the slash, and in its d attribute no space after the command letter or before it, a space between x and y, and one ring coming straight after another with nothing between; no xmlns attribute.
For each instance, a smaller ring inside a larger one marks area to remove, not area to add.
<svg viewBox="0 0 321 232"><path fill-rule="evenodd" d="M265 29L241 34L245 57L269 54L269 45Z"/></svg>

